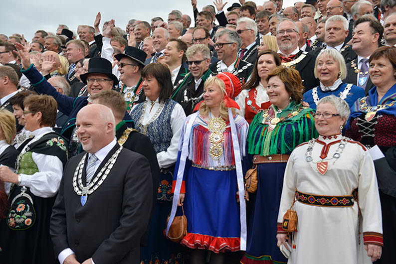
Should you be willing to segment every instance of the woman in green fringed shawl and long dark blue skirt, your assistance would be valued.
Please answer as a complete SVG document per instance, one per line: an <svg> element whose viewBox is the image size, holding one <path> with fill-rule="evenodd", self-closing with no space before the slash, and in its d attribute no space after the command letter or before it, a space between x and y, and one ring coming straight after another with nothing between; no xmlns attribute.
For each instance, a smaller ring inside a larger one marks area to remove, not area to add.
<svg viewBox="0 0 396 264"><path fill-rule="evenodd" d="M254 117L247 135L258 184L249 194L251 211L242 264L287 262L276 247L283 174L292 150L317 135L313 110L301 104L304 87L298 71L279 66L267 74L266 81L271 106Z"/></svg>

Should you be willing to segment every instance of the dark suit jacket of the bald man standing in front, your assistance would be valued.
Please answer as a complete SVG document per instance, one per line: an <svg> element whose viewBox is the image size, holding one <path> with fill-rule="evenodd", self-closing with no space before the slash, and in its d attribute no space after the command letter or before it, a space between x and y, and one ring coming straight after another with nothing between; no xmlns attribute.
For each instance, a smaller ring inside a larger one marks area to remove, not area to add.
<svg viewBox="0 0 396 264"><path fill-rule="evenodd" d="M109 152L93 177L119 148ZM73 175L83 155L66 164L52 209L50 235L55 255L70 248L77 261L96 264L139 264L140 241L150 222L153 182L147 159L123 148L104 182L84 206L73 189ZM85 184L84 164L82 181Z"/></svg>

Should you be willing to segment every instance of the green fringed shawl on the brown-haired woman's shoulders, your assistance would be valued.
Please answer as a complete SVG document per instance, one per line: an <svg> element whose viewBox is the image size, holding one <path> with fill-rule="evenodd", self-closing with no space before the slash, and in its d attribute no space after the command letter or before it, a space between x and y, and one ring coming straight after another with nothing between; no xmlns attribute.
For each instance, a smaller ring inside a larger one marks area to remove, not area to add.
<svg viewBox="0 0 396 264"><path fill-rule="evenodd" d="M273 107L273 106L272 106ZM301 112L283 122L279 122L272 130L268 130L263 123L263 114L274 115L272 108L258 113L249 126L247 135L247 151L253 155L290 154L299 144L318 136L315 129L311 108L304 108L301 104L290 105L278 117L284 117L296 110ZM276 110L276 109L275 109Z"/></svg>

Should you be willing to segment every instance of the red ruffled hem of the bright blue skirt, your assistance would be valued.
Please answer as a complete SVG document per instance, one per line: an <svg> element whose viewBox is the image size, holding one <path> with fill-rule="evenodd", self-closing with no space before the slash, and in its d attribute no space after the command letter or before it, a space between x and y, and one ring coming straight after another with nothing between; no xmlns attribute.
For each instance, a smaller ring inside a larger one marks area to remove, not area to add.
<svg viewBox="0 0 396 264"><path fill-rule="evenodd" d="M240 238L220 238L188 233L180 243L191 249L210 250L214 253L240 250Z"/></svg>

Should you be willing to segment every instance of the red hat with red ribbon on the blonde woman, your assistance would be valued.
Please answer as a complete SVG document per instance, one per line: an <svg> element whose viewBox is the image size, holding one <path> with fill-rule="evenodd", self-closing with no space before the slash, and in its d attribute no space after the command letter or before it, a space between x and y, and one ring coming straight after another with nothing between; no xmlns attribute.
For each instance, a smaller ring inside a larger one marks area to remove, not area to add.
<svg viewBox="0 0 396 264"><path fill-rule="evenodd" d="M237 97L242 90L242 86L238 77L229 72L221 72L217 74L216 77L224 82L225 95L223 100L225 102L225 106L239 109L238 104L232 99ZM199 102L196 105L194 111L198 111L199 106L202 102L203 101Z"/></svg>

